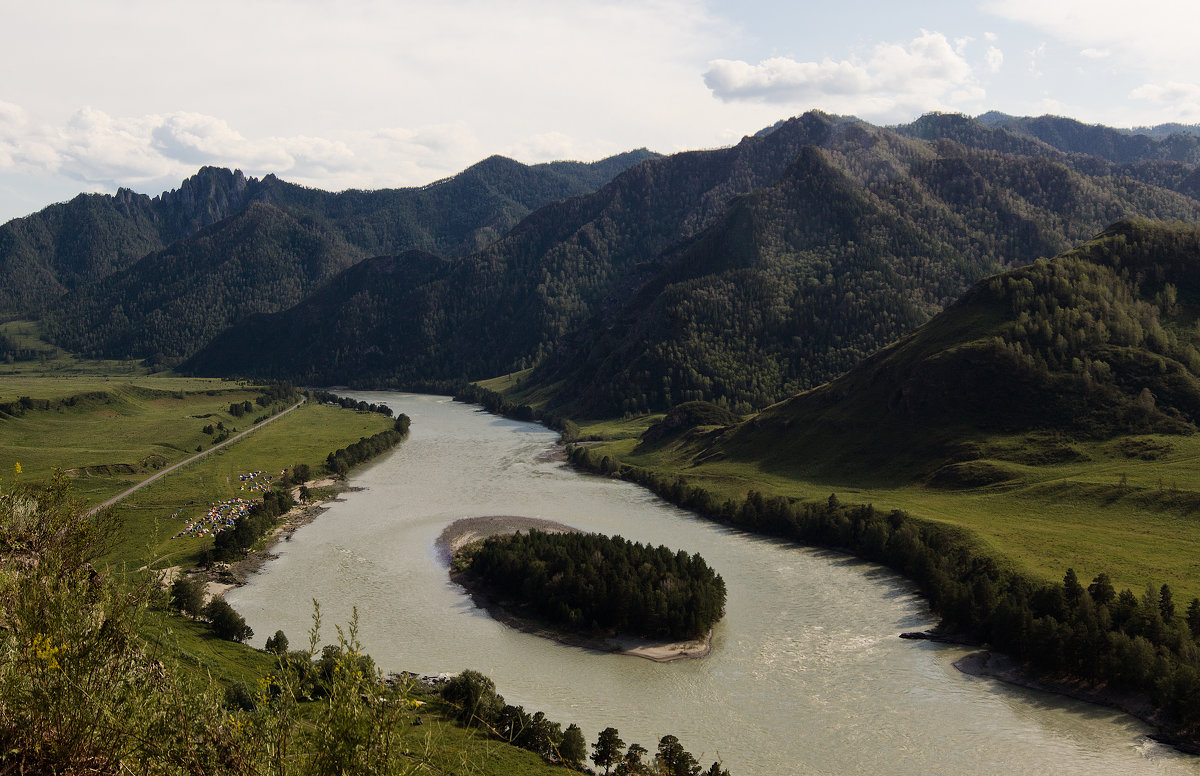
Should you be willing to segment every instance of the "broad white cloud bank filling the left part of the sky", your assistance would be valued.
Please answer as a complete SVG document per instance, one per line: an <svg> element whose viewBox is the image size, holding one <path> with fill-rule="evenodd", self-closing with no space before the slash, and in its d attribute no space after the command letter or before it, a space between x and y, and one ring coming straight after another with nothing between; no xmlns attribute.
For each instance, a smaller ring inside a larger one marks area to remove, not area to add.
<svg viewBox="0 0 1200 776"><path fill-rule="evenodd" d="M0 72L22 78L0 95L0 172L64 198L156 193L202 164L412 186L490 154L712 146L779 119L697 78L736 37L709 0L56 0L4 19Z"/></svg>

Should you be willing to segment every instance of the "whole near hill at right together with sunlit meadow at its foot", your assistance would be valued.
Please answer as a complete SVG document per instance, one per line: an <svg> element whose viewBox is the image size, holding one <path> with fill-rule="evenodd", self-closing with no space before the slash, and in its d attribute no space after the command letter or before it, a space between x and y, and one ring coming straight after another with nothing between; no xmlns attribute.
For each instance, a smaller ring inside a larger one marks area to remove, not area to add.
<svg viewBox="0 0 1200 776"><path fill-rule="evenodd" d="M906 510L1042 579L1200 595L1198 279L1196 228L1124 222L750 421L596 455L719 499Z"/></svg>

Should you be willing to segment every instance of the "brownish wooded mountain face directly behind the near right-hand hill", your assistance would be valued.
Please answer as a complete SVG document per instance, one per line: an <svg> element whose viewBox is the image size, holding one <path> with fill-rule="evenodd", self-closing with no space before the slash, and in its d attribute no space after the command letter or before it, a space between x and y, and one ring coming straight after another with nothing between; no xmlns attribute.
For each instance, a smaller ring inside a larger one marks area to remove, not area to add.
<svg viewBox="0 0 1200 776"><path fill-rule="evenodd" d="M1196 203L1050 158L870 127L806 149L774 186L665 254L619 309L533 377L570 413L703 399L739 411L829 380L1006 265L1052 255L1127 215Z"/></svg>

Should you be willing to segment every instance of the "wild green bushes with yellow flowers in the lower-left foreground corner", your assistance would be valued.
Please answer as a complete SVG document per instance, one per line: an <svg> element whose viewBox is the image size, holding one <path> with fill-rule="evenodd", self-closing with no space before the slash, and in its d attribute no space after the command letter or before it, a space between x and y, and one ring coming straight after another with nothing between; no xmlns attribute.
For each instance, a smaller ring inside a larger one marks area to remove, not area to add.
<svg viewBox="0 0 1200 776"><path fill-rule="evenodd" d="M0 770L236 771L220 698L137 637L151 586L92 566L113 530L62 477L0 493Z"/></svg>

